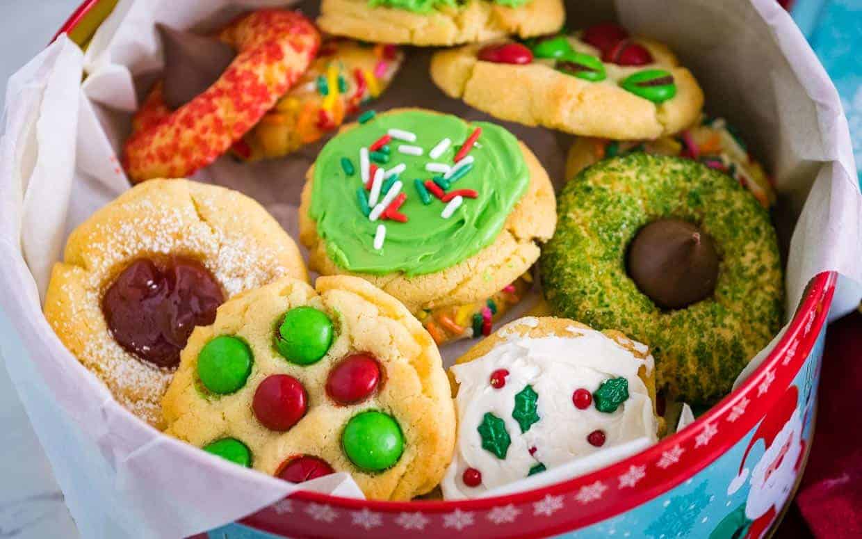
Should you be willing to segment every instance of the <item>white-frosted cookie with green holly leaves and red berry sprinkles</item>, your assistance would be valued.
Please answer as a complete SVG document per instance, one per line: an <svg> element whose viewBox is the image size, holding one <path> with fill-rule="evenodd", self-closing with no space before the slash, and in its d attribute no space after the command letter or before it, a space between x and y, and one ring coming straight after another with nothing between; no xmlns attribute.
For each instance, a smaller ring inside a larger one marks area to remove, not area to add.
<svg viewBox="0 0 862 539"><path fill-rule="evenodd" d="M507 324L449 377L458 440L441 484L447 499L476 498L637 438L654 442L663 428L647 345L565 318Z"/></svg>

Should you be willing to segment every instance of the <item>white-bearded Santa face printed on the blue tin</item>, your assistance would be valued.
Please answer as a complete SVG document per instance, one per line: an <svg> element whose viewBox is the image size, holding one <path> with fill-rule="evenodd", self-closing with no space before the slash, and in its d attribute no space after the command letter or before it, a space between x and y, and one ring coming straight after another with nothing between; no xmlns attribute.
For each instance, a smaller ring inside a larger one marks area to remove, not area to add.
<svg viewBox="0 0 862 539"><path fill-rule="evenodd" d="M772 507L780 511L790 498L803 451L802 432L799 411L794 411L790 421L784 424L754 467L746 501L746 517L756 520Z"/></svg>

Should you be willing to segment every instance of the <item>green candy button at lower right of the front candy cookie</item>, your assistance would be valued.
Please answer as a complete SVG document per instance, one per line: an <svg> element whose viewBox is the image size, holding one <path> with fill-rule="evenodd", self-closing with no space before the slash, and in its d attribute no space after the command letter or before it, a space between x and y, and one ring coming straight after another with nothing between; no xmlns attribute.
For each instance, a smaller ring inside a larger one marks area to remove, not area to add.
<svg viewBox="0 0 862 539"><path fill-rule="evenodd" d="M404 437L391 416L364 411L347 422L341 434L341 448L359 469L382 472L401 458Z"/></svg>

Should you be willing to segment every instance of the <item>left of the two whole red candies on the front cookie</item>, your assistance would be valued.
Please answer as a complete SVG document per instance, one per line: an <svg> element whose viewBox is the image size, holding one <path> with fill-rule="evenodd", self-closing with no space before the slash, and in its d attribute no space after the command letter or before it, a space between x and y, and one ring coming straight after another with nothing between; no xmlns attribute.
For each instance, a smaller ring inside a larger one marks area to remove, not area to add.
<svg viewBox="0 0 862 539"><path fill-rule="evenodd" d="M287 374L273 374L258 385L252 410L267 429L284 431L303 418L308 401L299 380Z"/></svg>

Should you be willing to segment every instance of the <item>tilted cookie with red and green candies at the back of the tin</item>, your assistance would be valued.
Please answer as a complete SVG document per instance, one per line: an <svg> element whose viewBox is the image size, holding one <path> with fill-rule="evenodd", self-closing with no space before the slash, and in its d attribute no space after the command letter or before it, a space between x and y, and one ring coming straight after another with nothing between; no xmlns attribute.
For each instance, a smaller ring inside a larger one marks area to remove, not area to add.
<svg viewBox="0 0 862 539"><path fill-rule="evenodd" d="M676 133L703 107L703 91L670 49L616 25L440 51L431 78L503 120L615 140Z"/></svg>

